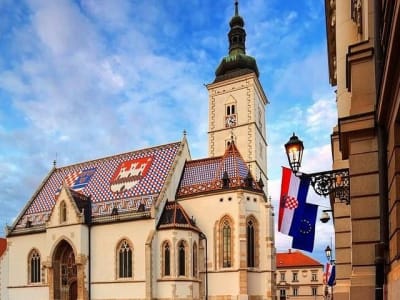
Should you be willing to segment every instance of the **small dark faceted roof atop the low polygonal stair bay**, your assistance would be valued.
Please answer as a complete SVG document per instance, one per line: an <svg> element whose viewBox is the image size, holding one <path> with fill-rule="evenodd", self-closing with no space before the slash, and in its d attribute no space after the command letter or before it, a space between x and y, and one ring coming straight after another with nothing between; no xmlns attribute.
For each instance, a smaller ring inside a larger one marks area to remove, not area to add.
<svg viewBox="0 0 400 300"><path fill-rule="evenodd" d="M161 229L191 229L200 232L193 219L189 218L183 207L176 201L167 202L161 214L157 228Z"/></svg>

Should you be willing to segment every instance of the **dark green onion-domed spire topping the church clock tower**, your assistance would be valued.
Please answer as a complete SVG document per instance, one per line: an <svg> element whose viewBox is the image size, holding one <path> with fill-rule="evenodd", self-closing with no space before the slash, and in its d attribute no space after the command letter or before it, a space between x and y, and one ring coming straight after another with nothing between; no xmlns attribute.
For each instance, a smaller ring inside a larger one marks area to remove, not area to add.
<svg viewBox="0 0 400 300"><path fill-rule="evenodd" d="M258 77L256 60L246 55L246 31L244 30L244 20L239 15L238 1L235 1L235 14L231 18L229 26L229 55L222 59L215 71L214 82L248 73L255 73Z"/></svg>

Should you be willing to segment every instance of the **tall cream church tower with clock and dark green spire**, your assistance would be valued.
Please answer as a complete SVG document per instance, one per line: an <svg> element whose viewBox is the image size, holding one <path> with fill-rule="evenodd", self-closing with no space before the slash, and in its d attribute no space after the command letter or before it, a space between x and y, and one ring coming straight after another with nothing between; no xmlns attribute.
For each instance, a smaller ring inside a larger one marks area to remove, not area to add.
<svg viewBox="0 0 400 300"><path fill-rule="evenodd" d="M254 178L262 180L267 193L267 97L258 79L256 60L246 54L246 31L238 2L229 22L229 54L207 85L209 93L208 155L223 155L235 141Z"/></svg>

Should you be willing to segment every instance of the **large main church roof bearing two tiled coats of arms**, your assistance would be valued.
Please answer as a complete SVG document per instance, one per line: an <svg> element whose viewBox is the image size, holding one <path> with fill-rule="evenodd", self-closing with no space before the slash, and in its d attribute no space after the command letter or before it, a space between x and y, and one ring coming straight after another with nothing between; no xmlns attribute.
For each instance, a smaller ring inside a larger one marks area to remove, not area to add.
<svg viewBox="0 0 400 300"><path fill-rule="evenodd" d="M171 143L54 168L20 215L16 227L44 224L64 183L92 201L92 217L150 209L179 152L181 143ZM76 195L75 195L76 196ZM74 197L76 198L76 197ZM78 200L79 202L79 200Z"/></svg>

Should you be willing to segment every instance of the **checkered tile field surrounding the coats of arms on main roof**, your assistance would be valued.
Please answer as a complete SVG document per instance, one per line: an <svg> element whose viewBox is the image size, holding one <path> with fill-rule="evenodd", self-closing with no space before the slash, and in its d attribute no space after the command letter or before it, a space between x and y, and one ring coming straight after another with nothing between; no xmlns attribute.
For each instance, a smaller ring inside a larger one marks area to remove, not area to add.
<svg viewBox="0 0 400 300"><path fill-rule="evenodd" d="M139 199L140 196L158 194L164 185L179 147L180 143L173 143L56 169L47 179L42 189L39 190L21 219L26 218L28 215L40 213L48 215L48 212L55 204L57 190L59 190L64 179L72 173L78 173L90 168L96 168L96 172L85 188L81 190L81 193L91 196L93 203L112 202L125 198ZM147 175L133 188L121 193L113 193L110 189L110 179L118 166L124 161L146 156L153 157ZM146 203L149 202L146 201ZM124 205L124 207L128 206ZM137 205L135 204L131 207L137 207Z"/></svg>

